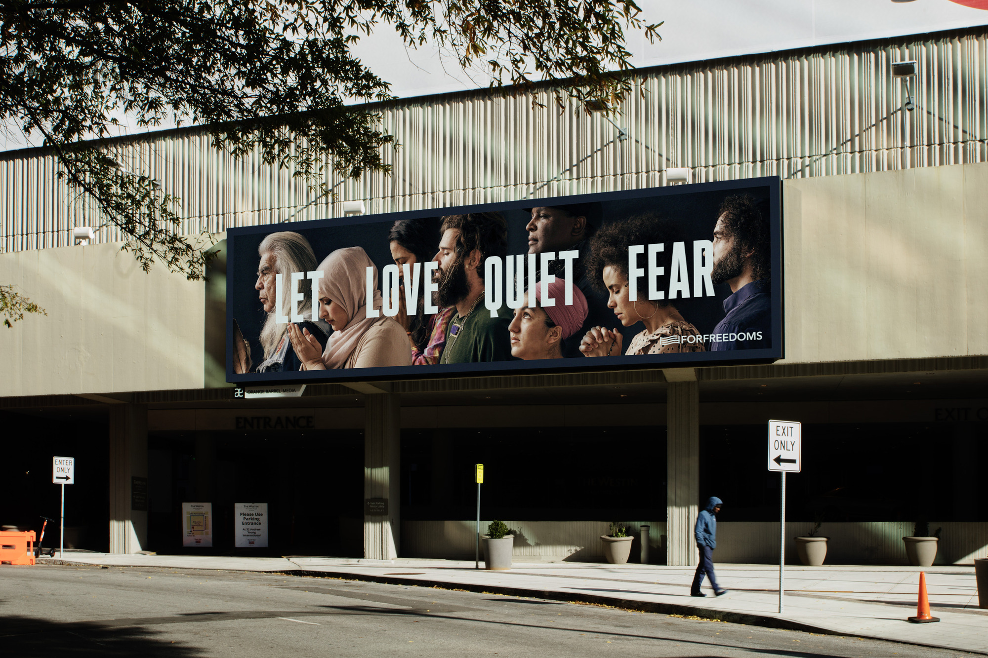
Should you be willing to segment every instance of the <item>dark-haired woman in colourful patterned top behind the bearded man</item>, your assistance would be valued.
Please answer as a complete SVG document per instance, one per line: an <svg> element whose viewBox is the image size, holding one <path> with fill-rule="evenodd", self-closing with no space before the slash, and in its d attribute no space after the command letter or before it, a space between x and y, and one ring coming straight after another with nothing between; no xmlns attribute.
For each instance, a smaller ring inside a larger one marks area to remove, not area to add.
<svg viewBox="0 0 988 658"><path fill-rule="evenodd" d="M409 269L416 263L425 264L436 253L439 244L439 219L399 219L387 234L391 243L391 258L404 277L402 265ZM446 329L453 317L453 306L441 308L438 313L425 314L425 287L419 286L418 310L409 316L405 306L404 284L398 293L398 314L394 319L405 328L409 347L412 351L412 364L427 366L438 364L446 346Z"/></svg>

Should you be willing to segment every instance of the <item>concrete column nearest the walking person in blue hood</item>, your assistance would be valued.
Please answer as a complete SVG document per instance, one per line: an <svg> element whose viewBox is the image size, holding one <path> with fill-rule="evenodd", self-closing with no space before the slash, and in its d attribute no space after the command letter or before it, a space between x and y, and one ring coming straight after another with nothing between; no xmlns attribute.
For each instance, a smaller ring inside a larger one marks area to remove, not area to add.
<svg viewBox="0 0 988 658"><path fill-rule="evenodd" d="M693 566L698 560L693 527L700 511L700 391L696 381L668 385L666 564Z"/></svg>

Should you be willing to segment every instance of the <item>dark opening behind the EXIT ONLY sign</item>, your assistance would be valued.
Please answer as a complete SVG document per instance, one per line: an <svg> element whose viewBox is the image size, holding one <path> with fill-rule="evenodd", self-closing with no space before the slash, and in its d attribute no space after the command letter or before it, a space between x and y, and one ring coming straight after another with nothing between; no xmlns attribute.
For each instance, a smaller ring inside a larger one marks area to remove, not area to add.
<svg viewBox="0 0 988 658"><path fill-rule="evenodd" d="M722 521L779 519L765 425L700 428L700 501ZM791 521L985 521L988 423L803 425L802 471L786 475Z"/></svg>

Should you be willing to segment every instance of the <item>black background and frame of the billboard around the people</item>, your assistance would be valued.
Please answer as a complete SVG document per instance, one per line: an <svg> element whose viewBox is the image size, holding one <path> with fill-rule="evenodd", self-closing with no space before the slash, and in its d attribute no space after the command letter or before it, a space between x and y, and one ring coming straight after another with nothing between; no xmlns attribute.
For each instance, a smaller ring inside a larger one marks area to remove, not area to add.
<svg viewBox="0 0 988 658"><path fill-rule="evenodd" d="M773 279L773 303L774 303L774 331L773 349L766 350L739 350L733 353L695 353L692 355L662 355L660 362L668 362L670 365L683 366L684 361L737 361L765 362L782 357L782 325L781 325L781 282L782 282L782 258L781 258L781 217L780 217L780 184L779 179L761 178L748 179L742 181L730 181L724 183L705 183L689 186L676 186L665 188L653 188L647 190L633 190L626 192L601 193L596 195L580 195L574 197L554 197L550 199L539 199L521 202L503 202L497 204L483 204L476 206L458 206L450 208L440 208L432 210L412 210L407 212L389 212L373 215L360 215L341 217L335 219L324 219L315 221L298 221L281 224L266 224L262 226L250 226L245 228L233 228L227 232L227 245L229 247L229 260L227 264L227 341L226 341L226 373L227 381L238 383L270 383L275 381L307 380L316 379L340 379L340 378L361 378L390 376L391 378L421 378L441 374L443 372L457 373L478 370L490 372L491 370L513 370L523 366L538 368L542 370L553 370L562 366L563 368L573 368L570 362L580 362L580 370L614 370L617 362L630 360L634 363L620 363L618 367L625 366L645 366L655 365L655 357L633 356L633 357L611 357L595 359L564 359L555 360L567 362L566 364L546 363L546 362L493 362L490 364L469 364L469 365L446 365L446 366L410 366L402 368L378 368L360 370L319 370L312 372L270 372L246 374L234 374L232 371L231 349L232 345L232 320L236 319L244 338L250 341L252 354L263 354L258 336L261 326L264 323L265 313L258 299L258 291L254 288L257 281L257 269L259 262L258 246L270 233L278 231L294 231L305 237L315 252L317 262L321 262L330 252L343 247L359 246L363 247L368 256L377 266L378 287L381 285L380 272L384 266L393 264L389 241L387 238L391 225L398 219L414 217L436 217L439 218L448 214L459 214L479 211L498 211L508 224L508 254L526 254L529 250L528 231L526 225L532 215L525 208L533 206L564 206L567 204L602 202L604 206L603 223L620 220L641 212L654 211L672 220L682 228L684 239L692 240L712 240L713 226L717 220L717 210L726 197L736 194L748 194L754 197L759 205L759 209L770 217L772 245L772 279ZM436 235L437 249L440 235ZM692 273L692 269L691 269ZM668 276L668 272L667 272ZM639 282L639 289L643 284ZM722 301L730 295L730 288L726 284L714 286L713 297L691 297L688 299L677 299L676 307L679 308L684 317L697 327L701 334L712 332L714 326L723 318L724 312ZM316 310L318 313L318 310ZM620 324L615 320L615 326L621 329ZM640 323L632 327L624 328L621 332L625 336L624 345L628 345L628 340L642 329ZM576 337L574 337L576 338ZM577 338L577 340L579 340ZM772 352L773 354L765 354ZM759 354L755 354L759 353ZM676 357L671 359L671 357ZM684 359L685 358L685 359ZM675 363L680 362L680 363ZM710 364L712 365L712 364ZM467 368L464 368L466 366ZM473 368L469 368L473 367ZM480 367L480 368L477 368ZM493 367L493 368L492 368ZM378 372L380 370L380 372ZM389 372L384 372L388 370ZM397 370L401 370L398 372Z"/></svg>

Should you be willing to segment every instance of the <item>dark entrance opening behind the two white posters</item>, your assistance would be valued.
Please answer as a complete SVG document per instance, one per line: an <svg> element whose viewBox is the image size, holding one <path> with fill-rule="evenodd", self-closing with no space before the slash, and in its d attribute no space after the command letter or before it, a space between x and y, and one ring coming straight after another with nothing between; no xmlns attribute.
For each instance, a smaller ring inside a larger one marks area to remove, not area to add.
<svg viewBox="0 0 988 658"><path fill-rule="evenodd" d="M182 546L184 502L212 503L211 548ZM268 504L267 548L234 546L235 503ZM362 557L364 433L151 433L148 505L159 553Z"/></svg>

